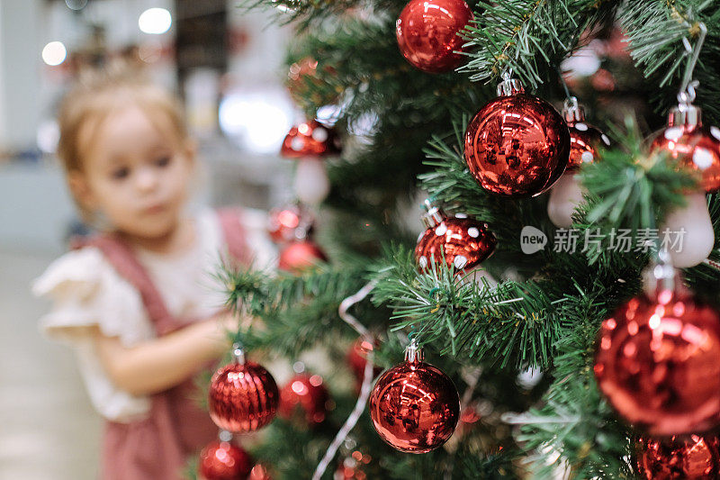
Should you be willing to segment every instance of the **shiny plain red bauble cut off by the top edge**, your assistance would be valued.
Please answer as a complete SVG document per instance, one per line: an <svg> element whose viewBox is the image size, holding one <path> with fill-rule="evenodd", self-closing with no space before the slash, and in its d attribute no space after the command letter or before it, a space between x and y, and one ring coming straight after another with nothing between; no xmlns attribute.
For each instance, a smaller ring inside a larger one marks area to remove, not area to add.
<svg viewBox="0 0 720 480"><path fill-rule="evenodd" d="M473 19L463 0L410 0L395 23L402 56L429 73L452 70L463 62L458 32Z"/></svg>

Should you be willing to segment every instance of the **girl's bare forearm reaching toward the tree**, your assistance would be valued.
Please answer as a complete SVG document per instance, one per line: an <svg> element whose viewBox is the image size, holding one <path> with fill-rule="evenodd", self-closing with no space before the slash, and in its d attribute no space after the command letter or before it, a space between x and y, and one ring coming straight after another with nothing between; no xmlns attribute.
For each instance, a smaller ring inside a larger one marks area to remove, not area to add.
<svg viewBox="0 0 720 480"><path fill-rule="evenodd" d="M225 329L237 326L236 318L223 313L132 348L98 330L95 345L115 385L134 395L156 394L182 383L207 362L219 358L229 349Z"/></svg>

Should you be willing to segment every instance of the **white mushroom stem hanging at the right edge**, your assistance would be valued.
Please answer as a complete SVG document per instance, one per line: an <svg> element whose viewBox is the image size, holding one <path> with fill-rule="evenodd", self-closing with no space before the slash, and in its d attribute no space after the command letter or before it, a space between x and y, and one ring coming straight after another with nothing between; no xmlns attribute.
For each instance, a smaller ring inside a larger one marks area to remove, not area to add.
<svg viewBox="0 0 720 480"><path fill-rule="evenodd" d="M715 245L715 232L707 211L705 193L686 195L685 199L688 205L669 213L658 232L661 241L664 232L668 232L670 241L666 242L665 247L672 266L678 268L695 267L702 263Z"/></svg>

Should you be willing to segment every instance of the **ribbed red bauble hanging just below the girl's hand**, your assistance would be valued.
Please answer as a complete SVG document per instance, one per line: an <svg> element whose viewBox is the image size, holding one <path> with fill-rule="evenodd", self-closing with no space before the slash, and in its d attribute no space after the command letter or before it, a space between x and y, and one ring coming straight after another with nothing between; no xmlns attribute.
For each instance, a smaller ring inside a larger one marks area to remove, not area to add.
<svg viewBox="0 0 720 480"><path fill-rule="evenodd" d="M275 418L280 394L275 378L255 362L231 363L212 376L208 407L222 430L247 433Z"/></svg>

